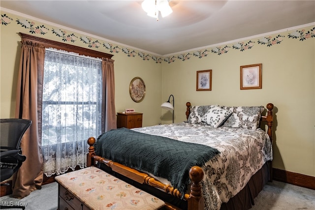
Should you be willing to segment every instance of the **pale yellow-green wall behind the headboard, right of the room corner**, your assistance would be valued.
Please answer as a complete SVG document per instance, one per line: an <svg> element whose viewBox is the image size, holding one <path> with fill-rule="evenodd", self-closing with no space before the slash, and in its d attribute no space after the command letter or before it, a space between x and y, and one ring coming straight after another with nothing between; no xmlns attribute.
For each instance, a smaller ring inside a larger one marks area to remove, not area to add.
<svg viewBox="0 0 315 210"><path fill-rule="evenodd" d="M313 28L313 27L312 27ZM310 29L312 29L310 28ZM273 167L315 176L315 38L163 64L163 97L175 97L175 122L185 104L275 105ZM271 35L277 36L278 34ZM258 38L259 39L259 38ZM254 41L256 39L252 39ZM249 40L245 40L245 43ZM240 66L262 63L262 89L240 90ZM212 91L196 91L196 71L212 69Z"/></svg>

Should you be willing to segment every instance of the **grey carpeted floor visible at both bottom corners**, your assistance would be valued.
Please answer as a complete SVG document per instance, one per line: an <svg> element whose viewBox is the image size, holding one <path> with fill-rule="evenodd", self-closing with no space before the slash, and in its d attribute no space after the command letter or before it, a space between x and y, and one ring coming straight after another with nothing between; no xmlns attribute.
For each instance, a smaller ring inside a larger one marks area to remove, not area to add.
<svg viewBox="0 0 315 210"><path fill-rule="evenodd" d="M273 181L266 184L254 202L251 210L315 210L315 190ZM26 210L57 210L58 184L43 185L23 199L3 196L0 203L24 205Z"/></svg>

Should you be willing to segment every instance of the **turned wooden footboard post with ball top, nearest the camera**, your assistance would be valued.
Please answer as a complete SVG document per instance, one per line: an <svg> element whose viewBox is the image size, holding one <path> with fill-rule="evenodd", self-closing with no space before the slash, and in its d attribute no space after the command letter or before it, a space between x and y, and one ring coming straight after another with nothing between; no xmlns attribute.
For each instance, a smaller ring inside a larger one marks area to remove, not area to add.
<svg viewBox="0 0 315 210"><path fill-rule="evenodd" d="M201 185L200 181L203 179L204 173L199 166L193 166L189 170L189 178L191 180L190 197L188 200L189 210L198 210L201 199Z"/></svg>

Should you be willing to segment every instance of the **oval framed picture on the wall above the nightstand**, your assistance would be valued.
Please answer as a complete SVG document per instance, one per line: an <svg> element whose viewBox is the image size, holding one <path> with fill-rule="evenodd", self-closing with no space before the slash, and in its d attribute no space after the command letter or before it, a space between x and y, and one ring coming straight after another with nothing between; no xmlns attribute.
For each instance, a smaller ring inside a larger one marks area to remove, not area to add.
<svg viewBox="0 0 315 210"><path fill-rule="evenodd" d="M140 77L135 77L129 85L129 94L133 101L141 102L146 95L146 85Z"/></svg>

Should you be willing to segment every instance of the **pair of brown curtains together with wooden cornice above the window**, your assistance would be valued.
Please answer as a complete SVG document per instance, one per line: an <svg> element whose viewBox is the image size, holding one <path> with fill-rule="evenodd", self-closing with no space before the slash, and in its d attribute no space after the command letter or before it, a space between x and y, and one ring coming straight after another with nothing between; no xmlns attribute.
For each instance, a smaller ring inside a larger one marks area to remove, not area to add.
<svg viewBox="0 0 315 210"><path fill-rule="evenodd" d="M21 148L26 161L18 173L13 176L12 196L24 198L33 190L40 189L43 181L43 155L41 151L42 127L42 91L45 60L45 47L54 47L102 59L102 132L115 129L115 79L112 55L83 49L64 43L22 35L22 52L17 79L15 118L32 120L32 125L25 133ZM99 56L101 55L101 56Z"/></svg>

